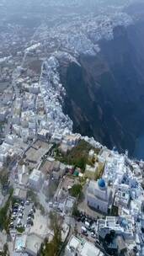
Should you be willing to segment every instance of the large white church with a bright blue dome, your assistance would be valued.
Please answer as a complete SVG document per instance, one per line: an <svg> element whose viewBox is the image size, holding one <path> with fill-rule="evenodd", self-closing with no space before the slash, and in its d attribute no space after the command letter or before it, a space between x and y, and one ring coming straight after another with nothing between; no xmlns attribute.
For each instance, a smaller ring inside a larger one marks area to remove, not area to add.
<svg viewBox="0 0 144 256"><path fill-rule="evenodd" d="M112 191L107 188L104 179L90 181L87 189L87 202L97 211L107 213L111 206Z"/></svg>

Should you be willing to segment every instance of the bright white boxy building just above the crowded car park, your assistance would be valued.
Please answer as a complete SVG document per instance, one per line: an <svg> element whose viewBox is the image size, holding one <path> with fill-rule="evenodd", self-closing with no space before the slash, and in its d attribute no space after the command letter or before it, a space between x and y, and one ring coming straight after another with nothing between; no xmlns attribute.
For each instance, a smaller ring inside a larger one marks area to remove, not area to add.
<svg viewBox="0 0 144 256"><path fill-rule="evenodd" d="M29 175L29 187L31 189L35 189L36 191L39 191L43 184L43 175L42 173L34 169L32 173Z"/></svg>

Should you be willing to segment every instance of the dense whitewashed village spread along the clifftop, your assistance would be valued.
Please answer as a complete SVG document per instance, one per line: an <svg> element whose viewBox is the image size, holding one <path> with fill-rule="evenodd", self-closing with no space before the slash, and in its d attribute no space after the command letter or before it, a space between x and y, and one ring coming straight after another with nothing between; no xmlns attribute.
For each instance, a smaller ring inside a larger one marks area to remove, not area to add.
<svg viewBox="0 0 144 256"><path fill-rule="evenodd" d="M144 162L73 133L63 112L60 61L80 65L133 22L103 11L0 32L1 255L144 254Z"/></svg>

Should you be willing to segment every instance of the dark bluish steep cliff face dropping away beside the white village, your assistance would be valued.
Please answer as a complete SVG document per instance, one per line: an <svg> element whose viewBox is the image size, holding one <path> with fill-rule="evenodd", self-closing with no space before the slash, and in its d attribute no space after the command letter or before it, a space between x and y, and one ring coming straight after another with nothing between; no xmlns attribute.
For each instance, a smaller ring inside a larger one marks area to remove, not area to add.
<svg viewBox="0 0 144 256"><path fill-rule="evenodd" d="M97 56L61 64L66 88L64 112L74 131L94 136L107 147L132 153L144 129L144 22L117 27L114 40L99 42Z"/></svg>

